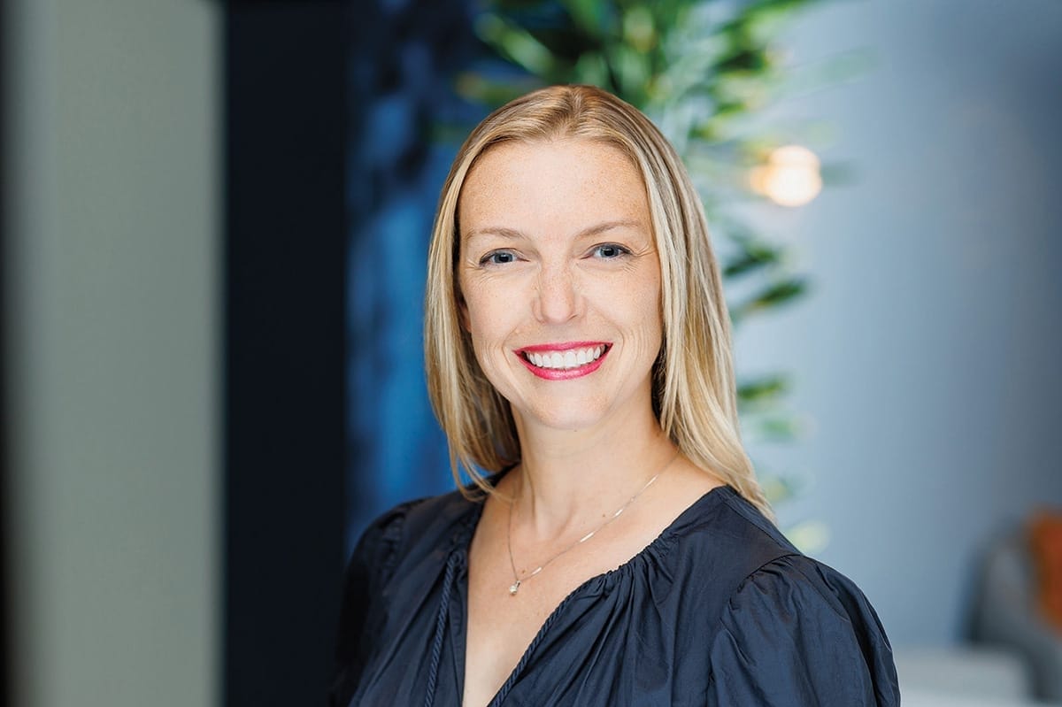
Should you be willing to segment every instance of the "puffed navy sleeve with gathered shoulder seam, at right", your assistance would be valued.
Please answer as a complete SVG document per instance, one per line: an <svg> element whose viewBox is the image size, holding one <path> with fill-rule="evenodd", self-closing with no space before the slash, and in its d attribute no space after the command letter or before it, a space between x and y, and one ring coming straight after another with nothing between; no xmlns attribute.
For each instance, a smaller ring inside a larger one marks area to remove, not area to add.
<svg viewBox="0 0 1062 707"><path fill-rule="evenodd" d="M749 575L710 651L708 704L893 707L892 649L851 580L801 555Z"/></svg>

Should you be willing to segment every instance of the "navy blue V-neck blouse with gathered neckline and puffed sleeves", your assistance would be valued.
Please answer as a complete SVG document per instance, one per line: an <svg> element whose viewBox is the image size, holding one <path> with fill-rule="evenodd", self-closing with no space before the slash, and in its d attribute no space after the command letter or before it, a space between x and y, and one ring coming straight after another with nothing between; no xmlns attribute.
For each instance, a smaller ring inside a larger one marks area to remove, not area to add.
<svg viewBox="0 0 1062 707"><path fill-rule="evenodd" d="M332 707L461 704L468 545L481 511L452 493L400 505L365 531L347 570ZM727 486L568 594L491 702L898 704L892 651L867 598Z"/></svg>

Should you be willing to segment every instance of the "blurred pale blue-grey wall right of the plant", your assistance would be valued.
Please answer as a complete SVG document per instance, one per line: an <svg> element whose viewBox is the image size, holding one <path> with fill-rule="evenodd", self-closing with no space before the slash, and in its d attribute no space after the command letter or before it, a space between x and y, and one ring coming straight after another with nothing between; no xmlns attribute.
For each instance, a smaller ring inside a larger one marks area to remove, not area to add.
<svg viewBox="0 0 1062 707"><path fill-rule="evenodd" d="M1062 506L1060 42L1056 0L835 2L785 35L794 66L873 64L773 115L832 123L810 144L856 183L764 209L815 293L739 366L795 375L810 434L758 450L811 481L781 518L827 523L894 644L956 639L984 545Z"/></svg>

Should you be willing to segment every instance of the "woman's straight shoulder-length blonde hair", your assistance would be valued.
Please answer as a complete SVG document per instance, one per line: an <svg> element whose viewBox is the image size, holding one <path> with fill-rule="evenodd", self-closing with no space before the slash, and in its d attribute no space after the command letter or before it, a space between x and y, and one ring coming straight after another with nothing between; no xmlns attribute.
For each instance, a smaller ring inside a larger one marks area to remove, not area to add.
<svg viewBox="0 0 1062 707"><path fill-rule="evenodd" d="M633 106L592 86L553 86L498 108L458 152L443 187L428 256L425 361L428 392L449 441L450 466L498 471L520 460L509 402L476 361L461 326L456 265L458 200L476 160L511 140L587 139L618 148L641 174L661 261L664 345L653 370L653 412L693 464L709 469L771 517L741 446L730 315L704 209L667 139Z"/></svg>

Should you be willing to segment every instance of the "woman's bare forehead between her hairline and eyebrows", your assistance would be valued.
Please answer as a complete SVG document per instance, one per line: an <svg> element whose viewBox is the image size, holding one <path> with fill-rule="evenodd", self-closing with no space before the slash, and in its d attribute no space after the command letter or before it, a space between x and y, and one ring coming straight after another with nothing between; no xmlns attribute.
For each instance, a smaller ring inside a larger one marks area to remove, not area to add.
<svg viewBox="0 0 1062 707"><path fill-rule="evenodd" d="M462 234L484 225L555 229L595 219L648 226L649 207L640 172L619 148L586 139L510 141L477 159L461 189L458 219Z"/></svg>

